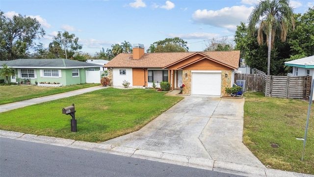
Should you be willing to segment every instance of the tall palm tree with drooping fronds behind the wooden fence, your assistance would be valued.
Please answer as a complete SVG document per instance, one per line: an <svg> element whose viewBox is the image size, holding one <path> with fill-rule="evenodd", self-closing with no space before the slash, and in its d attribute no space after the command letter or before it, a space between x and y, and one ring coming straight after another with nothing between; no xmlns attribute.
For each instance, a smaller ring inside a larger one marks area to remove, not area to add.
<svg viewBox="0 0 314 177"><path fill-rule="evenodd" d="M293 9L289 5L289 0L264 0L261 1L252 11L249 17L248 30L252 34L259 23L258 42L263 43L263 33L266 34L268 47L267 53L267 75L270 75L270 51L276 31L281 31L281 41L286 41L288 29L294 29Z"/></svg>

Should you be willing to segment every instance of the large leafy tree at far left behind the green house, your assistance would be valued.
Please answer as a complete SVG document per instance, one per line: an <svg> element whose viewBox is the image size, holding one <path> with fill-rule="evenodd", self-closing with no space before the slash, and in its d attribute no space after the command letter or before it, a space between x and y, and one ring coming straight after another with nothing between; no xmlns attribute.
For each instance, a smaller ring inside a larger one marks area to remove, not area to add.
<svg viewBox="0 0 314 177"><path fill-rule="evenodd" d="M35 18L14 15L9 19L0 11L0 60L24 58L36 39L45 35L45 30Z"/></svg>

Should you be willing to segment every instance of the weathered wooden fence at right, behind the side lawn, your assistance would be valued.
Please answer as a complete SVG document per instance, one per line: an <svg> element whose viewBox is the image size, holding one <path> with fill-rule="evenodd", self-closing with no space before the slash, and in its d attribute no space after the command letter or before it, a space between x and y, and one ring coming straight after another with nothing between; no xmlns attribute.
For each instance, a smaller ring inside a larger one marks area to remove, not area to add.
<svg viewBox="0 0 314 177"><path fill-rule="evenodd" d="M246 91L262 91L276 98L309 99L312 76L267 76L255 69L256 74L235 74L236 80L245 80Z"/></svg>

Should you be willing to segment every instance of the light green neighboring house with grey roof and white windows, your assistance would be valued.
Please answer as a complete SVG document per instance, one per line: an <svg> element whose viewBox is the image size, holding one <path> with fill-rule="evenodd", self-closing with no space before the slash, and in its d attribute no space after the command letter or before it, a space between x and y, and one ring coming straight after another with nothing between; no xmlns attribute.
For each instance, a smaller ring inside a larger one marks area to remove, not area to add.
<svg viewBox="0 0 314 177"><path fill-rule="evenodd" d="M100 83L103 72L100 70L100 64L72 59L15 59L0 61L0 68L3 64L15 71L9 82L19 84L59 83L62 86L70 86Z"/></svg>

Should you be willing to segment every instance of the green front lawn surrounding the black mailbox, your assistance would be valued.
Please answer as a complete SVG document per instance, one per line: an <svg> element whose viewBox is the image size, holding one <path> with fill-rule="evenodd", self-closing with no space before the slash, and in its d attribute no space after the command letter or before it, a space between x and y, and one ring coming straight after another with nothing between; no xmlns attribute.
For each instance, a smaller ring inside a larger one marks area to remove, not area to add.
<svg viewBox="0 0 314 177"><path fill-rule="evenodd" d="M0 129L104 142L140 129L183 99L163 94L155 89L101 89L0 113ZM62 114L72 103L77 132L71 132L71 116Z"/></svg>

